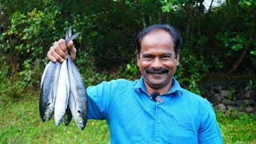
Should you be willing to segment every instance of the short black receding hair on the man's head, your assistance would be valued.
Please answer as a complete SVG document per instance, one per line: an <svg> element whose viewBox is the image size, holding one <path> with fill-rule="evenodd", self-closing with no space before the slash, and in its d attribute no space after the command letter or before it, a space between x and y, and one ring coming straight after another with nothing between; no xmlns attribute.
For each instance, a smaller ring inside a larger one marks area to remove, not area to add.
<svg viewBox="0 0 256 144"><path fill-rule="evenodd" d="M170 26L168 24L163 24L163 25L156 24L153 26L146 27L144 30L142 30L137 35L137 37L135 38L135 42L134 42L137 55L139 55L141 53L142 38L146 34L149 34L151 31L154 31L154 30L165 30L166 32L168 32L171 35L171 37L174 40L174 53L177 56L178 51L180 50L180 45L182 43L182 37L179 34L178 30L174 29L173 26Z"/></svg>

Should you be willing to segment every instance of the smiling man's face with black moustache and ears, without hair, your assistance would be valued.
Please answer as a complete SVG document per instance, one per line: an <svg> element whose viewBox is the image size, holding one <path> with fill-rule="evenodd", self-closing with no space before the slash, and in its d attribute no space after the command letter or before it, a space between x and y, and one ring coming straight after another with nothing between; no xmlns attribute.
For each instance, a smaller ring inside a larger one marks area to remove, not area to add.
<svg viewBox="0 0 256 144"><path fill-rule="evenodd" d="M175 58L174 41L165 30L154 30L142 38L138 67L144 78L146 89L171 88L171 80L178 66L179 54Z"/></svg>

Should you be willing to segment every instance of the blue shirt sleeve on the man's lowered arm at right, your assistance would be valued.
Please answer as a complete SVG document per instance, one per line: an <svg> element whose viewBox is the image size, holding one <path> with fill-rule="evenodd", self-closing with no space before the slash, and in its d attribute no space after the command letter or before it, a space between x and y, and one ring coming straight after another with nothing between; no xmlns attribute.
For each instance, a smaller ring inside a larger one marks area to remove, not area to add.
<svg viewBox="0 0 256 144"><path fill-rule="evenodd" d="M223 143L222 134L218 127L216 114L210 102L203 99L201 102L200 112L200 127L198 130L199 143Z"/></svg>

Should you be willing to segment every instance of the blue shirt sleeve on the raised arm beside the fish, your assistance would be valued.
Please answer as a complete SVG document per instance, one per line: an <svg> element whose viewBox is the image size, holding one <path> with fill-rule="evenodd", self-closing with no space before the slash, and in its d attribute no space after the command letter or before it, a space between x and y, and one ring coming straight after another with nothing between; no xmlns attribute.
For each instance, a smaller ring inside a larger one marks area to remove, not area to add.
<svg viewBox="0 0 256 144"><path fill-rule="evenodd" d="M86 89L89 119L102 120L107 118L116 83L116 81L102 82L97 86L89 86Z"/></svg>

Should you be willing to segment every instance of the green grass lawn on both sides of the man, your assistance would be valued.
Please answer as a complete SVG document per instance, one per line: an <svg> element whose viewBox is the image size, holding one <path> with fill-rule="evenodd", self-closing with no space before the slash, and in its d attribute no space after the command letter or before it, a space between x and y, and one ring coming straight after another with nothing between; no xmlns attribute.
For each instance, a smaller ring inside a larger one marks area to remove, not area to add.
<svg viewBox="0 0 256 144"><path fill-rule="evenodd" d="M110 143L106 121L89 120L79 130L74 119L56 127L54 118L42 122L38 95L0 105L0 143ZM0 96L1 100L1 96ZM225 117L217 114L224 143L256 143L256 114Z"/></svg>

